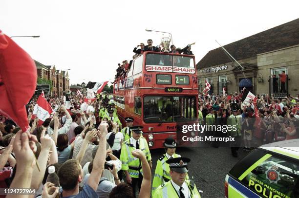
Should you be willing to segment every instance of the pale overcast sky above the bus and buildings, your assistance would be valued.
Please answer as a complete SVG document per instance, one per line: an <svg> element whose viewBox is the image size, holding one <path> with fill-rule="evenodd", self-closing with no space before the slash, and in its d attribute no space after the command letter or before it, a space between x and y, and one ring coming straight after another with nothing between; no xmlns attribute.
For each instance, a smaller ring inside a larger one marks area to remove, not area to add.
<svg viewBox="0 0 299 198"><path fill-rule="evenodd" d="M70 83L114 79L133 48L170 32L192 46L198 62L210 50L299 18L296 0L1 0L0 29L30 56L68 71Z"/></svg>

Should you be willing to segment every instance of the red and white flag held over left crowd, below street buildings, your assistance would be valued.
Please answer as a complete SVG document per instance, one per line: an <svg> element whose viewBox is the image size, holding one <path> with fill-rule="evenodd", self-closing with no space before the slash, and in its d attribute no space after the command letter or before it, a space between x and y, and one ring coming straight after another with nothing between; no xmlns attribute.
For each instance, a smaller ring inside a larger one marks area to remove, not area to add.
<svg viewBox="0 0 299 198"><path fill-rule="evenodd" d="M36 115L38 119L44 121L49 118L53 112L51 105L43 98L43 93L39 96L36 105L33 110L33 115Z"/></svg>

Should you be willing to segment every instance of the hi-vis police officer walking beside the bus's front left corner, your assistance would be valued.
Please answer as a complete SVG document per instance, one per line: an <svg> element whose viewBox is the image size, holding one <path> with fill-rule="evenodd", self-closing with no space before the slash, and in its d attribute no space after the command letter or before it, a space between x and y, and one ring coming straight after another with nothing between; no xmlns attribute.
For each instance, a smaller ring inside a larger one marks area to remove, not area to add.
<svg viewBox="0 0 299 198"><path fill-rule="evenodd" d="M141 137L143 126L132 126L132 137L124 142L122 146L120 160L122 162L122 170L125 172L126 180L133 188L133 193L136 195L136 185L139 189L143 179L141 161L134 158L131 151L140 149L144 152L149 166L151 167L151 156L149 153L149 145L145 138Z"/></svg>

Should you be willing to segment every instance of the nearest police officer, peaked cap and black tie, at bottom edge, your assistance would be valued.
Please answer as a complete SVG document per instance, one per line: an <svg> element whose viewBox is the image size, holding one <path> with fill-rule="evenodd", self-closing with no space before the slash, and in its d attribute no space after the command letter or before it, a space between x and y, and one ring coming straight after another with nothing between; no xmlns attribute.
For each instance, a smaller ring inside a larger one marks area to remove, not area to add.
<svg viewBox="0 0 299 198"><path fill-rule="evenodd" d="M171 180L160 185L153 198L200 198L193 181L186 179L190 158L171 158L166 161L170 167Z"/></svg>

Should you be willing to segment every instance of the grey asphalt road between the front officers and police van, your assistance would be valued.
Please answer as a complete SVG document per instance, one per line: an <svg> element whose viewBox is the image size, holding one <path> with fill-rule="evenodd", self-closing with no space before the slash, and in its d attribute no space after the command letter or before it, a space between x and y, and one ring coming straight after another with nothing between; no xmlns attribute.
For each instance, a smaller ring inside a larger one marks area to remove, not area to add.
<svg viewBox="0 0 299 198"><path fill-rule="evenodd" d="M150 153L153 164L152 175L154 175L156 161L165 153L165 150L154 149ZM175 153L191 158L191 162L188 164L188 174L189 178L194 178L197 190L203 191L201 198L224 198L226 174L236 162L248 154L247 151L240 148L238 158L234 158L231 155L230 147L214 148L210 145L177 148Z"/></svg>

